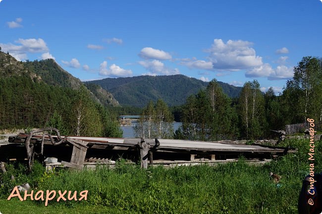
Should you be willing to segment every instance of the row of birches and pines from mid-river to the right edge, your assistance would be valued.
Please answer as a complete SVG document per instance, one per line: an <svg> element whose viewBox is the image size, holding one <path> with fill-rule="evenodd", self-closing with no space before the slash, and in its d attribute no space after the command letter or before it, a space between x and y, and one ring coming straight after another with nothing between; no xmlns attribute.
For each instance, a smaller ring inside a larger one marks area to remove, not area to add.
<svg viewBox="0 0 322 214"><path fill-rule="evenodd" d="M184 105L172 108L173 112L179 112L182 127L167 136L202 141L260 139L271 137L270 130L285 129L286 124L302 123L308 117L322 122L321 58L303 57L294 67L293 78L278 96L272 88L266 93L260 88L257 80L248 81L239 97L229 98L218 82L212 80L205 90L189 96ZM156 131L156 127L161 127L157 106L150 102L144 108L136 127L138 136L160 136ZM173 121L173 114L166 105L164 109L167 116L161 123L166 124Z"/></svg>

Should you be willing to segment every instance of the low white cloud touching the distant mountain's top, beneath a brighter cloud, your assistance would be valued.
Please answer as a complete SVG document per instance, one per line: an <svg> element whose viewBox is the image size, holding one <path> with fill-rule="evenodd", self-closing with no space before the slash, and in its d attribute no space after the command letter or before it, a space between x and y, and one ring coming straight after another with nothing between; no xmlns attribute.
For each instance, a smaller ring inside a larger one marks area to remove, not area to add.
<svg viewBox="0 0 322 214"><path fill-rule="evenodd" d="M145 75L155 76L157 74L172 75L180 73L178 68L168 68L163 62L156 59L152 61L139 61L139 64L150 71L149 73L144 73Z"/></svg>

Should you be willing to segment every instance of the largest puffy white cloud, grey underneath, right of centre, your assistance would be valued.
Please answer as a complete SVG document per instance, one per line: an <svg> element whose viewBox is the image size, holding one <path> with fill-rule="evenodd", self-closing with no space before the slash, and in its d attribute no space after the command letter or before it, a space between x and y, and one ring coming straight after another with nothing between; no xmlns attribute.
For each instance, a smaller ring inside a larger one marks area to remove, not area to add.
<svg viewBox="0 0 322 214"><path fill-rule="evenodd" d="M262 57L257 56L251 42L242 40L228 40L224 43L215 39L212 47L207 50L213 67L219 70L236 71L249 69L263 64Z"/></svg>

